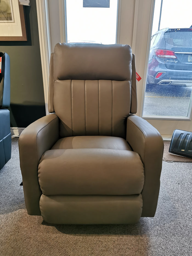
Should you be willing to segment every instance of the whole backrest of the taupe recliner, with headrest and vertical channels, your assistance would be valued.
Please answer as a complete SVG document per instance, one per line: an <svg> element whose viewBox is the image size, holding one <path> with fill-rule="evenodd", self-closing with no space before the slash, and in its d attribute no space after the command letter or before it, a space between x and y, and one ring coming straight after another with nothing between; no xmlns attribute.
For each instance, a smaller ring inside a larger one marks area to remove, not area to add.
<svg viewBox="0 0 192 256"><path fill-rule="evenodd" d="M125 119L137 111L131 47L56 44L50 59L48 108L60 119L61 137L125 138Z"/></svg>

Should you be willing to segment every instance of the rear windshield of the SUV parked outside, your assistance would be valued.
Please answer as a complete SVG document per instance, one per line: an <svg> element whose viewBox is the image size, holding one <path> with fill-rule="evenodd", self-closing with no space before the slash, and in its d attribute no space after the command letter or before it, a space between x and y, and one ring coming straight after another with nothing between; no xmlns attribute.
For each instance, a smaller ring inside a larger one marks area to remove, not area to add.
<svg viewBox="0 0 192 256"><path fill-rule="evenodd" d="M165 32L165 42L174 46L192 47L192 29L170 29Z"/></svg>

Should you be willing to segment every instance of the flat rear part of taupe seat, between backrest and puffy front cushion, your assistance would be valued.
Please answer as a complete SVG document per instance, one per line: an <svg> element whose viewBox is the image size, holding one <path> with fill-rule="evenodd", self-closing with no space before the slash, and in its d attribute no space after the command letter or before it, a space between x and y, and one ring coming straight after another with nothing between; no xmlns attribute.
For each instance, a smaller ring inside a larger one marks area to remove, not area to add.
<svg viewBox="0 0 192 256"><path fill-rule="evenodd" d="M125 139L111 136L75 136L58 140L52 149L106 148L131 150Z"/></svg>

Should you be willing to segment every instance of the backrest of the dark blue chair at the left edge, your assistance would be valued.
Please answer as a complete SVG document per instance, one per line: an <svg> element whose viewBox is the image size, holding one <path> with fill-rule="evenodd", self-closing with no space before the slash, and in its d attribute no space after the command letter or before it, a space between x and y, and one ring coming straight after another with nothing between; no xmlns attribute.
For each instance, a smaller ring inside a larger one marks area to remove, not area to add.
<svg viewBox="0 0 192 256"><path fill-rule="evenodd" d="M0 52L0 108L10 106L10 58L5 52Z"/></svg>

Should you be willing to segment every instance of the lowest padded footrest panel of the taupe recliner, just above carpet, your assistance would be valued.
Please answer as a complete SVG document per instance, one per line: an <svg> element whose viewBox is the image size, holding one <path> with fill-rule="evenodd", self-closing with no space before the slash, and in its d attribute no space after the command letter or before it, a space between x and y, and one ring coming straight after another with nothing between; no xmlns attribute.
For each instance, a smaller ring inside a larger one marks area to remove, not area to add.
<svg viewBox="0 0 192 256"><path fill-rule="evenodd" d="M43 220L52 224L135 224L142 195L41 195Z"/></svg>

